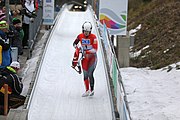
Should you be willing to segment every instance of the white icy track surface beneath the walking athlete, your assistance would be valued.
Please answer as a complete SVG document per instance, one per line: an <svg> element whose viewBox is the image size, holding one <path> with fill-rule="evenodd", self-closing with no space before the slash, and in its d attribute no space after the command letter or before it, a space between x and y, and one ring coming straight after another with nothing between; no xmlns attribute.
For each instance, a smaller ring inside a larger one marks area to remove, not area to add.
<svg viewBox="0 0 180 120"><path fill-rule="evenodd" d="M65 9L58 16L32 95L28 120L112 120L100 47L93 97L81 97L85 91L83 76L71 68L72 43L85 21L93 23L90 10L70 12ZM97 35L94 24L92 33Z"/></svg>

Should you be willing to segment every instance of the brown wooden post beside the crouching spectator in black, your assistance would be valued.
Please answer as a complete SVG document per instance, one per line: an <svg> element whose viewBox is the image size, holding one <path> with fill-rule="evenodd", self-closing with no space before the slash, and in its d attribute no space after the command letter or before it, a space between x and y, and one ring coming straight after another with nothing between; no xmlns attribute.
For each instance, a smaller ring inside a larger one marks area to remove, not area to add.
<svg viewBox="0 0 180 120"><path fill-rule="evenodd" d="M4 84L4 115L7 116L8 113L8 85Z"/></svg>

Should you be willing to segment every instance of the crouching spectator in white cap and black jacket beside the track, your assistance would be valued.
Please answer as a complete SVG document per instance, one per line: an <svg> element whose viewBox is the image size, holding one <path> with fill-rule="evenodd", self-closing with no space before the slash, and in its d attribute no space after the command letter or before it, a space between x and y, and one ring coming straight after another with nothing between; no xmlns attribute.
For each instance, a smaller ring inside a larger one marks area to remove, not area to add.
<svg viewBox="0 0 180 120"><path fill-rule="evenodd" d="M10 66L1 69L0 71L0 114L3 114L3 105L4 105L4 84L8 85L8 94L9 94L9 106L14 103L11 103L11 97L21 98L21 92L23 89L23 84L21 79L17 75L18 70L20 69L20 64L17 61L13 61ZM24 98L23 98L24 99ZM16 103L17 104L17 103Z"/></svg>

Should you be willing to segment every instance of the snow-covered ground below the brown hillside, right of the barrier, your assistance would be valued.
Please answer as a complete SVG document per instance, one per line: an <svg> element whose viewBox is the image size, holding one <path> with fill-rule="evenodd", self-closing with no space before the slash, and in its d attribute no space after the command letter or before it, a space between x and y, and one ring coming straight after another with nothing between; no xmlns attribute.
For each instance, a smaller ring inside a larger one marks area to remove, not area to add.
<svg viewBox="0 0 180 120"><path fill-rule="evenodd" d="M180 63L177 63L180 65ZM180 70L121 68L133 120L180 120Z"/></svg>

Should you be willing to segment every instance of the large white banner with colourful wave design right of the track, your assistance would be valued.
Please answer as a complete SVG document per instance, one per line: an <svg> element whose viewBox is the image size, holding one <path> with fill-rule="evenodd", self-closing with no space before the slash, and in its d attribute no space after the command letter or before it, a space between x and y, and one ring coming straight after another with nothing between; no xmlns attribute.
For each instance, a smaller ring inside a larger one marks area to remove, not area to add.
<svg viewBox="0 0 180 120"><path fill-rule="evenodd" d="M128 0L100 0L99 19L111 35L126 35Z"/></svg>

